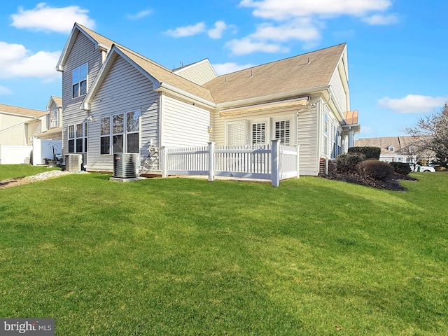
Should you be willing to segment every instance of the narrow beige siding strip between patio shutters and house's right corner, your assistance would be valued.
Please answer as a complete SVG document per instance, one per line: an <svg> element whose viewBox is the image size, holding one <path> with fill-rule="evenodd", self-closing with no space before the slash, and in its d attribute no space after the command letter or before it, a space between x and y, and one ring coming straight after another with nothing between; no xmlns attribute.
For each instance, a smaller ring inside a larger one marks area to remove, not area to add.
<svg viewBox="0 0 448 336"><path fill-rule="evenodd" d="M317 176L319 171L317 109L297 113L297 143L300 145L300 175Z"/></svg>

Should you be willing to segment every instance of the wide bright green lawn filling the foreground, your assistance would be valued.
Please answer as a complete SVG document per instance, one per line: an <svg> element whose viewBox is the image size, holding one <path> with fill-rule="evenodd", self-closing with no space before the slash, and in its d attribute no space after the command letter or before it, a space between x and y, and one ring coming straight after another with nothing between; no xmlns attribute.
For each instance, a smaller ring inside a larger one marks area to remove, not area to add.
<svg viewBox="0 0 448 336"><path fill-rule="evenodd" d="M448 174L412 176L407 193L101 174L0 190L0 316L56 335L447 335Z"/></svg>

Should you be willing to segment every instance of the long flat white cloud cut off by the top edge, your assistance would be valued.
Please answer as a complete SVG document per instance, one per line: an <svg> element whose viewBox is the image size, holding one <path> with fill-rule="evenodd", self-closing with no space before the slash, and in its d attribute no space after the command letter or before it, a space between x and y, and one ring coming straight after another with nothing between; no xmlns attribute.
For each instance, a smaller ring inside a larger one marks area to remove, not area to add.
<svg viewBox="0 0 448 336"><path fill-rule="evenodd" d="M242 0L241 7L255 8L253 15L273 20L310 17L324 18L340 15L365 16L372 11L384 11L392 5L391 0Z"/></svg>

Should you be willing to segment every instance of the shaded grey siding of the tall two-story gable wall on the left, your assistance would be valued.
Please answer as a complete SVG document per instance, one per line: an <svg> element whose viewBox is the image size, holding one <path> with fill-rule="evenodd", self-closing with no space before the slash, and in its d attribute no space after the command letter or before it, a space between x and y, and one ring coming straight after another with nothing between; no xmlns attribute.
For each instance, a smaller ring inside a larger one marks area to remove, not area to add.
<svg viewBox="0 0 448 336"><path fill-rule="evenodd" d="M84 34L79 33L73 48L67 57L62 73L62 105L63 105L63 128L62 128L62 147L63 155L69 151L67 139L67 126L83 123L85 121L85 111L79 109L85 96L72 98L71 91L71 73L73 69L88 63L87 73L87 90L92 85L94 78L97 76L99 68L102 65L102 52L95 50L95 45ZM88 146L88 144L87 144Z"/></svg>

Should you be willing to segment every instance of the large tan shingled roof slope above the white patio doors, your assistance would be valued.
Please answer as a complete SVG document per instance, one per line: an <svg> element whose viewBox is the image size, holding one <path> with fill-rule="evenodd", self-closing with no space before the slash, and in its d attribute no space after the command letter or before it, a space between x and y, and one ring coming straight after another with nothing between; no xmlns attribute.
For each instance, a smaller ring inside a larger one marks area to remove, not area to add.
<svg viewBox="0 0 448 336"><path fill-rule="evenodd" d="M219 76L203 86L216 103L239 101L329 85L346 43Z"/></svg>

